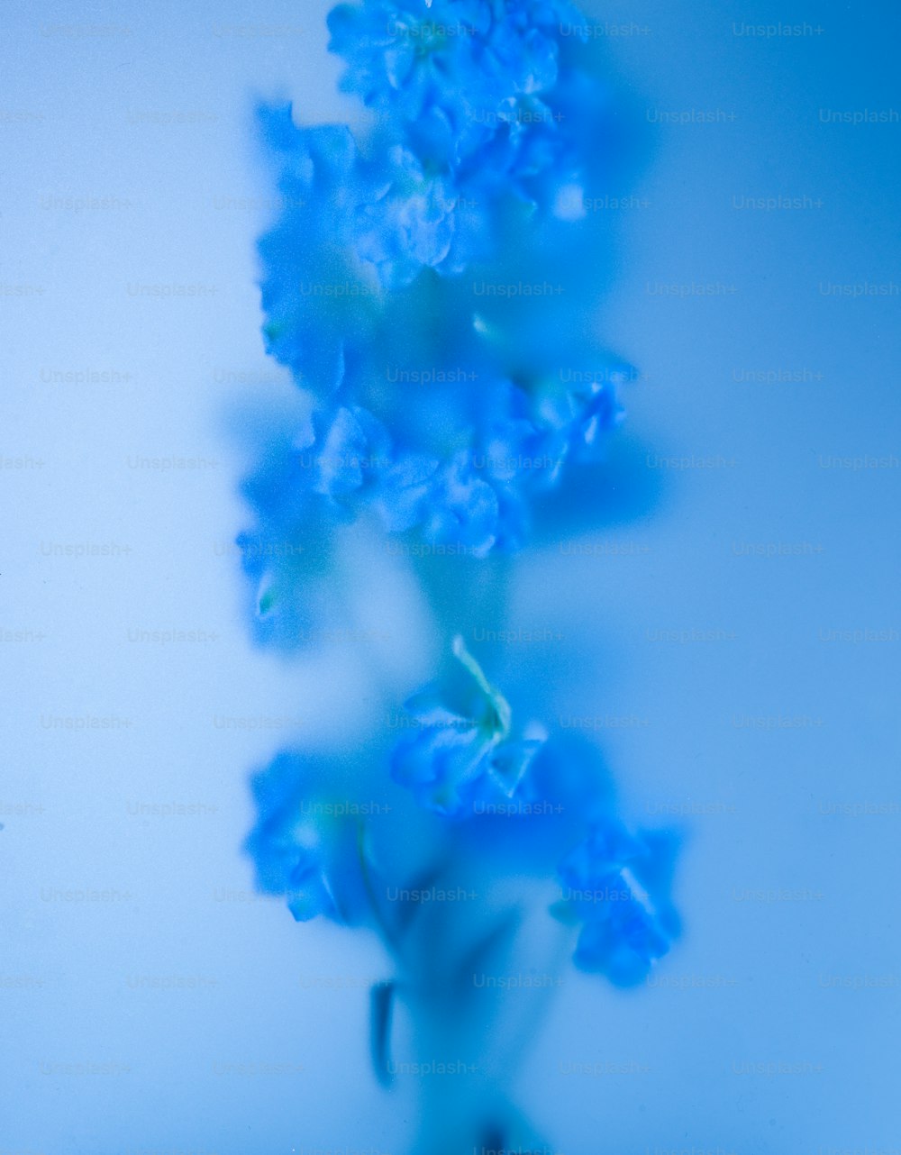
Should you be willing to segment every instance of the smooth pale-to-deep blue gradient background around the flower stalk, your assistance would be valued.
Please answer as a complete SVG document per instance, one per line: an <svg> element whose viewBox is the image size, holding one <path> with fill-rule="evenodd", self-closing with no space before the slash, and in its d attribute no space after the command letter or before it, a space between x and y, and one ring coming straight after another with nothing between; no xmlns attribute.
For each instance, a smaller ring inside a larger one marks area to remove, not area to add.
<svg viewBox="0 0 901 1155"><path fill-rule="evenodd" d="M633 23L603 44L641 161L623 187L639 203L611 211L605 327L643 380L626 398L613 500L579 538L587 553L553 543L517 566L509 624L565 641L509 661L537 678L543 663L568 670L550 679L548 711L600 718L589 737L631 817L684 830L685 933L653 989L568 973L519 1095L565 1155L894 1152L901 129L824 124L819 110L898 113L899 14L590 10ZM289 740L364 735L368 665L399 698L430 668L422 608L387 566L358 606L387 636L374 662L347 646L300 663L254 651L228 546L246 520L233 415L252 395L291 398L258 333L253 241L271 189L252 99L288 92L306 120L352 116L333 95L325 13L263 0L3 16L2 1153L401 1155L411 1131L414 1103L367 1070L379 949L246 901L238 852L251 767ZM732 21L822 31L750 38ZM692 109L735 119L660 122ZM732 207L780 194L822 203ZM65 198L116 200L76 211ZM735 291L657 289L699 282ZM820 288L862 282L894 295ZM119 379L52 378L85 368ZM740 380L780 368L807 379ZM891 468L824 468L892 454ZM173 455L203 464L135 465ZM721 464L667 465L692 455ZM84 543L118 556L65 556ZM745 543L810 549L767 558ZM397 591L405 609L388 617ZM215 636L129 641L166 628ZM654 640L692 629L717 640ZM893 633L825 640L856 629ZM47 725L85 715L120 724ZM807 722L740 721L776 715ZM260 716L268 729L216 721ZM132 813L140 803L209 812ZM868 805L887 813L855 814ZM118 897L58 893L87 887ZM806 897L747 897L767 888ZM152 985L173 979L181 989ZM780 1061L801 1072L747 1073ZM579 1063L625 1070L566 1073Z"/></svg>

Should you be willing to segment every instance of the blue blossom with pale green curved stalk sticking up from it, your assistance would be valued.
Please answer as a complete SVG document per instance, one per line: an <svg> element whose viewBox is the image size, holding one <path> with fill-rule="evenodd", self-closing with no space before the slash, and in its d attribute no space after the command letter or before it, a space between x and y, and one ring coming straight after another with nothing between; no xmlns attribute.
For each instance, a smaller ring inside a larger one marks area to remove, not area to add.
<svg viewBox="0 0 901 1155"><path fill-rule="evenodd" d="M417 732L392 759L394 781L420 806L448 817L471 813L476 799L513 797L543 740L511 738L509 705L461 638L454 656L461 668L455 685L430 686L405 703Z"/></svg>

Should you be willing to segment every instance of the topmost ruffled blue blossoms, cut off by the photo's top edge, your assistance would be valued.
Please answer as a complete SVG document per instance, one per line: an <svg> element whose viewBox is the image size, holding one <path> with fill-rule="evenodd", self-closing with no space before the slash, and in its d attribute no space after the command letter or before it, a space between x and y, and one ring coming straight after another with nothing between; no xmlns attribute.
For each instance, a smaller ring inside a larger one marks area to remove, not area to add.
<svg viewBox="0 0 901 1155"><path fill-rule="evenodd" d="M522 224L517 206L557 214L560 189L581 189L596 142L580 124L600 96L561 65L565 23L583 28L563 0L364 0L333 9L329 47L348 61L342 87L380 114L370 154L384 188L366 210L363 251L384 284L405 283L420 267L457 275L492 255L511 214Z"/></svg>

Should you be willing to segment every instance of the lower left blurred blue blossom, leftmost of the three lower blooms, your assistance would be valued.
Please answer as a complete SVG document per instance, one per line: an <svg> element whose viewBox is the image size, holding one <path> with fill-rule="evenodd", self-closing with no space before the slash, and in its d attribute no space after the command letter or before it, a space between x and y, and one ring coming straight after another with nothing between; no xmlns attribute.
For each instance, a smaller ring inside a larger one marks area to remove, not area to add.
<svg viewBox="0 0 901 1155"><path fill-rule="evenodd" d="M284 895L298 922L358 922L367 909L359 827L333 817L337 807L322 802L310 761L278 754L251 785L258 814L245 849L258 888Z"/></svg>

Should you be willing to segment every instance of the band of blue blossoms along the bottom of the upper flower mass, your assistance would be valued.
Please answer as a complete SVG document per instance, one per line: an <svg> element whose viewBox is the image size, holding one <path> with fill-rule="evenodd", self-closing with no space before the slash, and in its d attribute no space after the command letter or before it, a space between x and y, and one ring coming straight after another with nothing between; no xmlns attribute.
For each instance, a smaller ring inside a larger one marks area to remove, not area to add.
<svg viewBox="0 0 901 1155"><path fill-rule="evenodd" d="M367 513L387 532L474 557L520 549L533 497L554 486L567 462L596 456L619 418L610 382L551 380L527 392L487 371L459 377L471 381L416 398L382 386L367 398L381 417L335 400L314 409L291 442L270 448L244 486L256 528L239 538L265 629L274 612L289 610L292 583L315 580L332 530ZM341 393L356 389L355 371Z"/></svg>

